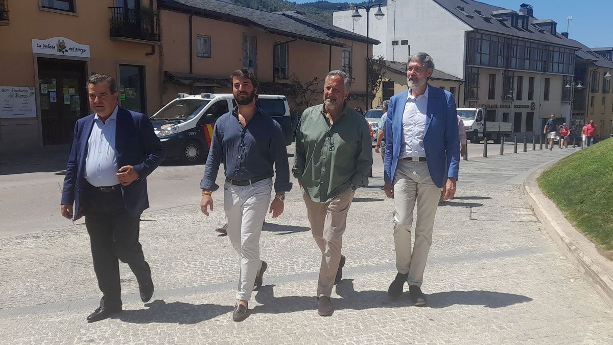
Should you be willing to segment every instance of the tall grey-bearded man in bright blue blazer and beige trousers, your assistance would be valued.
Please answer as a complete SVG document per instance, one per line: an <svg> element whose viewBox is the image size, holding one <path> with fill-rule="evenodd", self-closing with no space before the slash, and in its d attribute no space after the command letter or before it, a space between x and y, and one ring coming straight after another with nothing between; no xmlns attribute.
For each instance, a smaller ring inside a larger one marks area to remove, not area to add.
<svg viewBox="0 0 613 345"><path fill-rule="evenodd" d="M405 282L416 306L426 306L421 291L425 263L440 196L455 195L460 165L460 139L454 96L428 85L434 71L426 53L409 56L409 90L390 99L385 123L385 185L394 199L394 243L398 274L387 293L399 297ZM441 192L441 188L443 191ZM411 252L411 224L417 202L415 244Z"/></svg>

